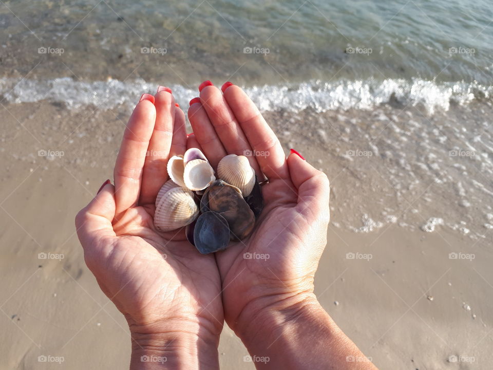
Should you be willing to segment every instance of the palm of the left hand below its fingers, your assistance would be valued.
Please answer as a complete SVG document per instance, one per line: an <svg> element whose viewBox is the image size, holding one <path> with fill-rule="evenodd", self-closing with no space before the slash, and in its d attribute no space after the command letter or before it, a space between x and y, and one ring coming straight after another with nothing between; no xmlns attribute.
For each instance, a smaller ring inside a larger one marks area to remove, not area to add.
<svg viewBox="0 0 493 370"><path fill-rule="evenodd" d="M100 255L93 258L101 262L96 267L98 281L119 310L136 324L170 315L200 316L221 324L214 256L198 254L183 232L155 232L143 207L126 213L137 216L124 226L117 224L116 237L110 243L102 241L96 248Z"/></svg>

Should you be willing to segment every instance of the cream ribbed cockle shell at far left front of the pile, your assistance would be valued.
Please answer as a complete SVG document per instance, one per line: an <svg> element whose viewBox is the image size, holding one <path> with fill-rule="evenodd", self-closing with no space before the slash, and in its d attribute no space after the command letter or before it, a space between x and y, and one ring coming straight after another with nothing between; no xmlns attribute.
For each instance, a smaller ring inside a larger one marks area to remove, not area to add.
<svg viewBox="0 0 493 370"><path fill-rule="evenodd" d="M159 231L176 230L193 223L198 214L193 193L185 188L173 188L161 197L154 214L154 226Z"/></svg>

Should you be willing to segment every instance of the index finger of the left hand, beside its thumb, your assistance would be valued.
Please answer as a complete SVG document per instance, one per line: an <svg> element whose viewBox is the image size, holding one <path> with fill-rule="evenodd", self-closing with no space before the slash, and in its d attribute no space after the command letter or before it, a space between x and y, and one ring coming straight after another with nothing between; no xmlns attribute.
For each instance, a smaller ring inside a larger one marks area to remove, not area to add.
<svg viewBox="0 0 493 370"><path fill-rule="evenodd" d="M128 120L115 164L116 218L139 200L142 169L155 121L154 96L144 94Z"/></svg>

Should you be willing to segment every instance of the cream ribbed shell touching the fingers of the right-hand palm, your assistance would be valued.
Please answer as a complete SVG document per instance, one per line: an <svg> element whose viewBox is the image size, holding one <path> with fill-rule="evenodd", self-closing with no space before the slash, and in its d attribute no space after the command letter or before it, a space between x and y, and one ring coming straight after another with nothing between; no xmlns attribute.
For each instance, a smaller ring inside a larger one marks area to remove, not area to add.
<svg viewBox="0 0 493 370"><path fill-rule="evenodd" d="M250 195L255 185L255 171L245 156L230 154L222 158L217 165L217 176L240 189L244 197Z"/></svg>

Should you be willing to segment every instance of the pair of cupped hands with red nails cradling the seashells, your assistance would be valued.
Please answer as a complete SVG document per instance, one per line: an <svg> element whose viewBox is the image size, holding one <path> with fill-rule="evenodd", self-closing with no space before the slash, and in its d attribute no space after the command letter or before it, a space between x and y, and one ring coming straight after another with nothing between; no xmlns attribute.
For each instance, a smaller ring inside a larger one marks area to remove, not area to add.
<svg viewBox="0 0 493 370"><path fill-rule="evenodd" d="M171 366L188 356L214 368L224 321L246 342L275 330L276 312L295 315L316 300L313 279L329 221L327 176L295 151L286 157L240 87L227 82L221 91L206 81L199 91L188 108L194 132L188 136L169 88L142 96L123 135L114 185L106 181L75 219L87 266L128 322L131 363L163 357ZM267 179L253 233L225 251L202 255L183 229L154 227L167 160L189 147L198 147L214 169L227 154L246 155L257 177Z"/></svg>

